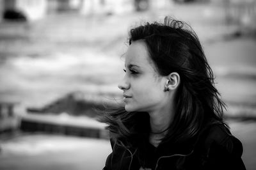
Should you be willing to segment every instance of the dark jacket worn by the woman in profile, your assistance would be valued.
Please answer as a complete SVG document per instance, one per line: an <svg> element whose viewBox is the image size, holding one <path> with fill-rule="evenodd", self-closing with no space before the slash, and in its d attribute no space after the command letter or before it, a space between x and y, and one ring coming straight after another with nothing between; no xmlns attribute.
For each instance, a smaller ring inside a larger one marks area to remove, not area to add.
<svg viewBox="0 0 256 170"><path fill-rule="evenodd" d="M159 144L157 148L147 144L144 157L140 151L118 146L111 140L113 152L106 160L104 170L134 169L246 169L241 159L243 146L231 135L223 123L205 128L196 142L188 141L173 146L170 143Z"/></svg>

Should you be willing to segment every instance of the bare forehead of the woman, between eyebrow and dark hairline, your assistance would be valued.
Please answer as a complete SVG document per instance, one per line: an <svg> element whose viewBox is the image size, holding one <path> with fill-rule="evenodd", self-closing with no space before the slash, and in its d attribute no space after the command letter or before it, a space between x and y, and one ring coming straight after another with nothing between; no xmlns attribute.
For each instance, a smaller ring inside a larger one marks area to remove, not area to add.
<svg viewBox="0 0 256 170"><path fill-rule="evenodd" d="M154 64L149 57L147 46L143 41L132 42L125 54L125 67L136 65L142 68L153 68Z"/></svg>

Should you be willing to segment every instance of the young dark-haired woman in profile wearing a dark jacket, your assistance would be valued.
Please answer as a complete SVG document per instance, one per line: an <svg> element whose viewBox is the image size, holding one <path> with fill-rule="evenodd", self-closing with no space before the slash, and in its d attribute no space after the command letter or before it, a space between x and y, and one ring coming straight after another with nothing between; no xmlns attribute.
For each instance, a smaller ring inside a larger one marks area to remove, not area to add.
<svg viewBox="0 0 256 170"><path fill-rule="evenodd" d="M193 30L168 17L131 29L124 106L105 111L113 152L104 169L245 169L243 146Z"/></svg>

